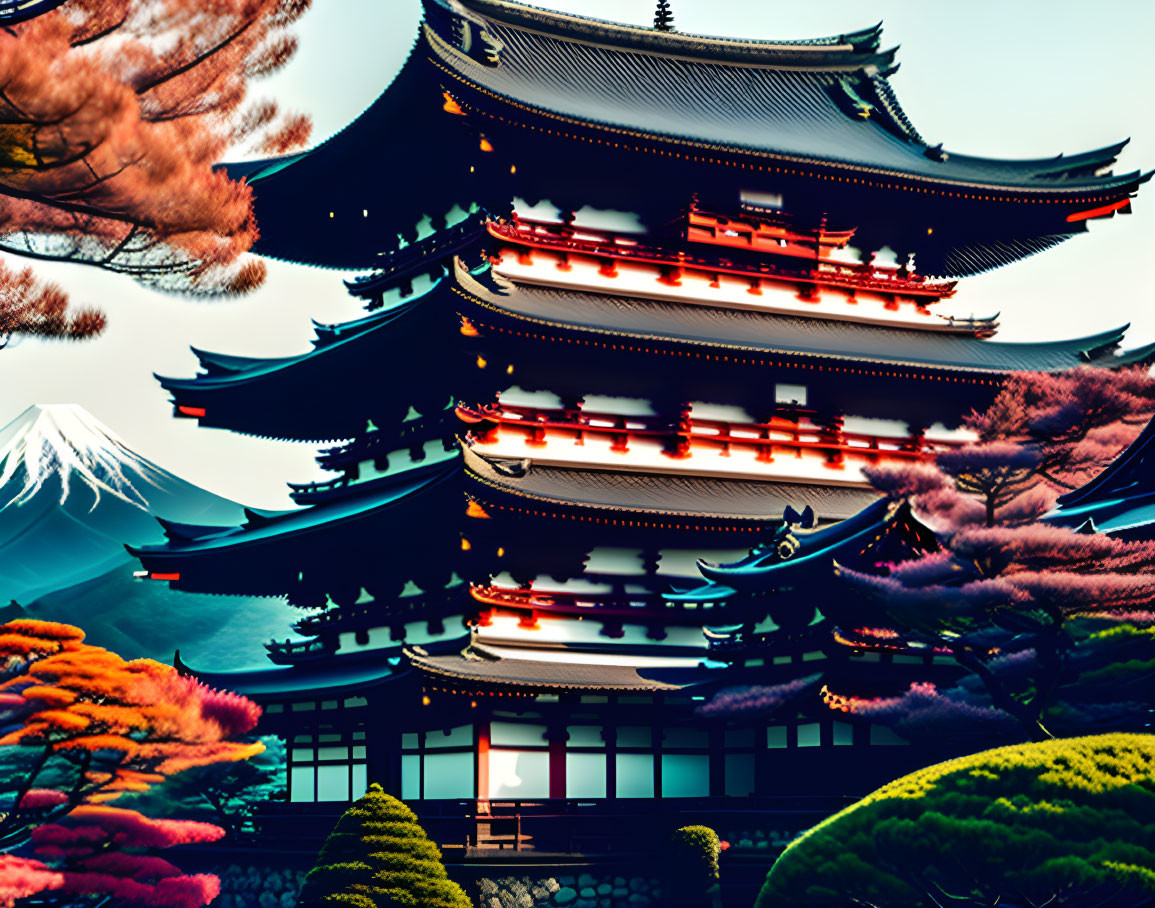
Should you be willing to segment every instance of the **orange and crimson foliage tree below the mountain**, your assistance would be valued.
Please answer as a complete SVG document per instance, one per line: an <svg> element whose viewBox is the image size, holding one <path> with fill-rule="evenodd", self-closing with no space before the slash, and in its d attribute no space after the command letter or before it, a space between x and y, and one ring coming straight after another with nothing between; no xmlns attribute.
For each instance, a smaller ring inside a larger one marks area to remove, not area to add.
<svg viewBox="0 0 1155 908"><path fill-rule="evenodd" d="M118 903L207 905L214 878L185 877L142 849L211 841L221 828L102 802L260 753L263 745L233 739L259 717L244 697L171 665L125 661L85 643L76 627L0 625L0 908L33 893L61 903L96 893Z"/></svg>

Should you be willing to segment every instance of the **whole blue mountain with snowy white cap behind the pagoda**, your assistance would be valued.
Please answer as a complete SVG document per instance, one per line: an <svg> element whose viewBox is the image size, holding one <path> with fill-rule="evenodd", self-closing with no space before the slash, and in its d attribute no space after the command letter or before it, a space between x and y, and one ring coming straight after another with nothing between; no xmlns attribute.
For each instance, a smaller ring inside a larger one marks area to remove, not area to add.
<svg viewBox="0 0 1155 908"><path fill-rule="evenodd" d="M156 518L239 522L241 507L129 448L82 407L30 407L0 429L0 603L75 586L161 542Z"/></svg>

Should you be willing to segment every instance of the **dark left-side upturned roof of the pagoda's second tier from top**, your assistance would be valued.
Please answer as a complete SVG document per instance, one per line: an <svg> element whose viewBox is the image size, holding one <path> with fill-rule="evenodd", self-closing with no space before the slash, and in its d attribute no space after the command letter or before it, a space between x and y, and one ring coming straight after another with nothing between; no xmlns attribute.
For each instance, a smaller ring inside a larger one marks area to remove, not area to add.
<svg viewBox="0 0 1155 908"><path fill-rule="evenodd" d="M442 321L437 305L446 292L441 283L359 319L334 325L314 321L312 349L304 353L247 357L192 348L200 374L156 379L172 396L177 412L196 415L203 426L298 441L351 438L365 429L365 414L372 411L367 395L379 402L387 389L394 397L416 399L413 388L420 386L429 396L424 386L448 374L423 343ZM370 366L371 387L358 392L355 384L334 392L338 377L357 375ZM418 370L433 374L425 381L416 374ZM444 399L448 397L447 386Z"/></svg>

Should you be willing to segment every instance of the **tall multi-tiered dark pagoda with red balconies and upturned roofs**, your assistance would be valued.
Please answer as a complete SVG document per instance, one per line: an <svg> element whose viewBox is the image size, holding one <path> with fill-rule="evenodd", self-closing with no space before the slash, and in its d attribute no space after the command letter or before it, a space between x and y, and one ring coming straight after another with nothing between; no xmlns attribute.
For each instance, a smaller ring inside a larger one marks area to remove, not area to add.
<svg viewBox="0 0 1155 908"><path fill-rule="evenodd" d="M1009 372L1155 358L1120 351L1126 326L1012 344L936 311L1150 174L1110 171L1122 144L929 144L894 68L878 28L763 42L425 0L362 118L231 168L258 251L365 271L366 315L162 384L178 417L329 445L336 475L293 486L300 511L135 553L177 588L319 609L275 668L184 667L266 706L291 804L373 779L471 817L470 844L541 816L538 846L582 850L544 818L859 794L947 756L798 706L839 672L956 671L859 639L812 580L934 545L863 470L967 440Z"/></svg>

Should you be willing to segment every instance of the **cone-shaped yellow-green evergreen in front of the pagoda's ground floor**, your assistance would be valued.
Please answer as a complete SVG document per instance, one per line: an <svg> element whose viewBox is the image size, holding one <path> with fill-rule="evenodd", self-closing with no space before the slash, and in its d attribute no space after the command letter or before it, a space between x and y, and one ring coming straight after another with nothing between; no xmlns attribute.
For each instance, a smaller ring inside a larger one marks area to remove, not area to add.
<svg viewBox="0 0 1155 908"><path fill-rule="evenodd" d="M417 816L373 783L334 827L305 878L301 908L471 908Z"/></svg>

